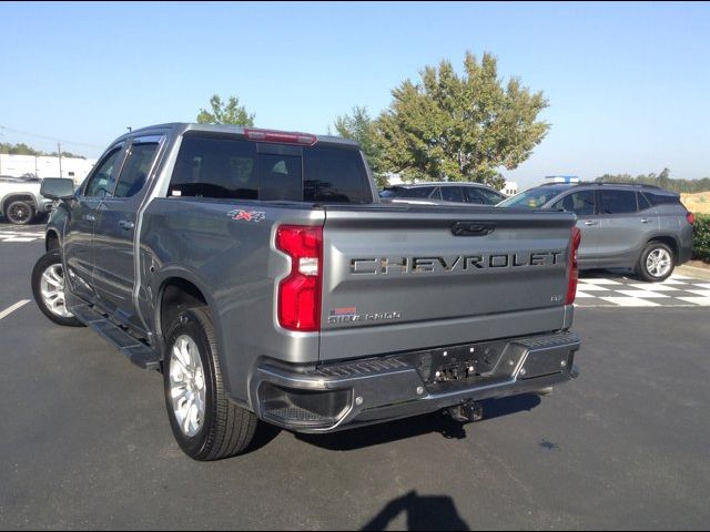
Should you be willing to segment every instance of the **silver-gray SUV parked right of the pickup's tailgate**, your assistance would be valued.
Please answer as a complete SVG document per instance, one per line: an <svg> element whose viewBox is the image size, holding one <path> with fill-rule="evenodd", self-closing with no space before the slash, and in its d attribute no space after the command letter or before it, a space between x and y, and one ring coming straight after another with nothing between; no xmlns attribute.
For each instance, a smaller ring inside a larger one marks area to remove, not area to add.
<svg viewBox="0 0 710 532"><path fill-rule="evenodd" d="M547 184L498 206L574 212L581 269L633 268L642 279L660 282L692 256L694 215L678 194L657 186Z"/></svg>

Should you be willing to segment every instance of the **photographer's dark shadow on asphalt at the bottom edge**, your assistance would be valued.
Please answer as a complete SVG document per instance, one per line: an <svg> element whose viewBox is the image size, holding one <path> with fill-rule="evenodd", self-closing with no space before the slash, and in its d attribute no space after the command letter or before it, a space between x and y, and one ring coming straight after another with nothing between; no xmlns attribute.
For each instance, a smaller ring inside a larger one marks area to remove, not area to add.
<svg viewBox="0 0 710 532"><path fill-rule="evenodd" d="M406 513L406 530L470 530L450 497L422 497L416 491L389 502L362 530L385 530L400 513Z"/></svg>

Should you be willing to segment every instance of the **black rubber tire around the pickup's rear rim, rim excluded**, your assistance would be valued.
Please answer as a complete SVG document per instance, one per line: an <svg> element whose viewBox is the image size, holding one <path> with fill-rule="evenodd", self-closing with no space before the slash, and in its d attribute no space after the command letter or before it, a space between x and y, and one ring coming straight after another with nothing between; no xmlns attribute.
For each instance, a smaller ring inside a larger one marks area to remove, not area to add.
<svg viewBox="0 0 710 532"><path fill-rule="evenodd" d="M181 311L169 326L169 330L163 381L170 427L178 444L190 458L201 461L221 460L245 451L254 439L257 418L226 397L214 327L207 308L200 306ZM176 340L183 336L190 337L197 347L205 385L204 417L199 431L192 437L180 427L171 397L171 354Z"/></svg>

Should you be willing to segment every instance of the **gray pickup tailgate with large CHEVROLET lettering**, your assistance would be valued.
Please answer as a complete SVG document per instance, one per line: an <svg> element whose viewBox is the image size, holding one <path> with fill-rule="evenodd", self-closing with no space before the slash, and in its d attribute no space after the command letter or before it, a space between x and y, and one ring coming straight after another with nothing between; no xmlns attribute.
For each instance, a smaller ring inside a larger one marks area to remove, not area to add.
<svg viewBox="0 0 710 532"><path fill-rule="evenodd" d="M566 213L325 207L322 360L566 327Z"/></svg>

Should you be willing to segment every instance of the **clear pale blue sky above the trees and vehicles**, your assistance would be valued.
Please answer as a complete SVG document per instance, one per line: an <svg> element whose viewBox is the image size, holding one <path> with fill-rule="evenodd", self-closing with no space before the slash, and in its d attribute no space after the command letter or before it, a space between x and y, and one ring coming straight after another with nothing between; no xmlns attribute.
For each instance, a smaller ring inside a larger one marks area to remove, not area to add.
<svg viewBox="0 0 710 532"><path fill-rule="evenodd" d="M710 3L0 3L0 142L99 156L236 95L256 125L326 133L466 51L542 91L551 124L516 170L710 176Z"/></svg>

